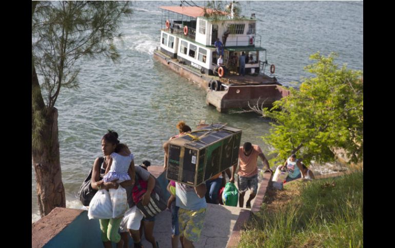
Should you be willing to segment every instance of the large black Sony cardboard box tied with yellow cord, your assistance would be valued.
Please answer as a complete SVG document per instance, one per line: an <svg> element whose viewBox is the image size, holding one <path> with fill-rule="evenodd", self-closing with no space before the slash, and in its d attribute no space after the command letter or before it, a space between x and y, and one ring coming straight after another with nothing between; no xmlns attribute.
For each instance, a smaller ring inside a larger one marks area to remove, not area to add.
<svg viewBox="0 0 395 248"><path fill-rule="evenodd" d="M198 186L237 165L242 130L215 123L170 141L166 177Z"/></svg>

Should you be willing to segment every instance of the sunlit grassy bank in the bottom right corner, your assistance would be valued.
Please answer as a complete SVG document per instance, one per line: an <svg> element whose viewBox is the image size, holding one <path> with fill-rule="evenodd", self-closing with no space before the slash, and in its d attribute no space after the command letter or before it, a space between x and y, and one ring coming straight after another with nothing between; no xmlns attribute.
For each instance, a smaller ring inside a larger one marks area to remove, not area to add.
<svg viewBox="0 0 395 248"><path fill-rule="evenodd" d="M290 182L287 191L296 194L283 206L263 205L239 247L363 247L363 171Z"/></svg>

